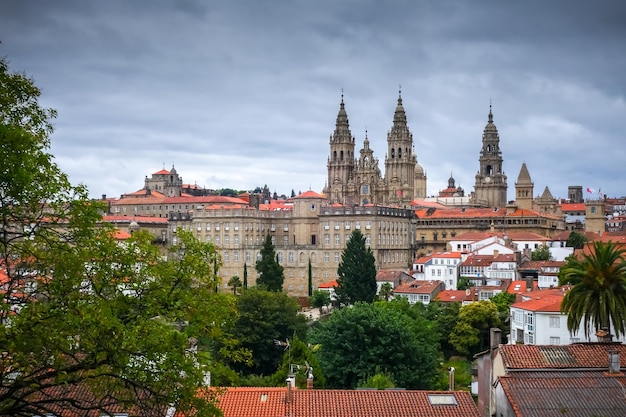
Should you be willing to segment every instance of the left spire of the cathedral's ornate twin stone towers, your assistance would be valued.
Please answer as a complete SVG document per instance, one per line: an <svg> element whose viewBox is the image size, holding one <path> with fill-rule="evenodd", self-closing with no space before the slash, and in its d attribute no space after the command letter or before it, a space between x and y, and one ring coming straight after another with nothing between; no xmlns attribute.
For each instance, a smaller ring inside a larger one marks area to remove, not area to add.
<svg viewBox="0 0 626 417"><path fill-rule="evenodd" d="M346 203L344 201L346 187L348 181L352 179L354 165L354 137L350 132L342 91L335 131L330 136L330 155L327 163L328 186L325 191L330 201Z"/></svg>

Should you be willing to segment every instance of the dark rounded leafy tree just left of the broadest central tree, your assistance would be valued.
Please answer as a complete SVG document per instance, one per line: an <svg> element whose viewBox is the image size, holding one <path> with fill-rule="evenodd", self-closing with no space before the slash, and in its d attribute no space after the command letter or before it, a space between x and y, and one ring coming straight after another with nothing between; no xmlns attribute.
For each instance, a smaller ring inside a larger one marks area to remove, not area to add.
<svg viewBox="0 0 626 417"><path fill-rule="evenodd" d="M248 364L234 363L243 374L272 375L281 363L283 348L275 341L306 336L307 319L298 301L282 292L250 288L237 297L239 317L232 334L252 352Z"/></svg>

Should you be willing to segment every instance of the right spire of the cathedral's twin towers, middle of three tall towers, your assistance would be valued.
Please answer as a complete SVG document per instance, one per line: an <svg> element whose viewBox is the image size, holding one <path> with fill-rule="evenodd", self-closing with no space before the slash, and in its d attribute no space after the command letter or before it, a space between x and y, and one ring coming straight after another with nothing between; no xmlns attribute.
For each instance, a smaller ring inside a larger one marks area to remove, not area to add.
<svg viewBox="0 0 626 417"><path fill-rule="evenodd" d="M385 182L387 202L410 204L415 198L415 166L417 158L413 152L413 134L406 122L402 106L402 93L398 92L398 104L393 116L393 126L387 133L387 155L385 157Z"/></svg>

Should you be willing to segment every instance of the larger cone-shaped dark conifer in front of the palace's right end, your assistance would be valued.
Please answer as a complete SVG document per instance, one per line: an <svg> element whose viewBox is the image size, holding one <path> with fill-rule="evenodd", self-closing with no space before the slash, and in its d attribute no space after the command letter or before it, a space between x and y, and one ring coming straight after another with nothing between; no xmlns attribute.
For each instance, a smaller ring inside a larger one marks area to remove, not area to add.
<svg viewBox="0 0 626 417"><path fill-rule="evenodd" d="M359 229L352 231L337 273L339 277L335 292L340 305L374 301L377 290L376 261Z"/></svg>

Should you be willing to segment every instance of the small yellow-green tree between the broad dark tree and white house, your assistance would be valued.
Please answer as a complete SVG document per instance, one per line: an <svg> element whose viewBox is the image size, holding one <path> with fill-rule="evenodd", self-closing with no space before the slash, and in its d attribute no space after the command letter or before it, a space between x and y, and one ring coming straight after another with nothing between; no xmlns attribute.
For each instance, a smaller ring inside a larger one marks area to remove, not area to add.
<svg viewBox="0 0 626 417"><path fill-rule="evenodd" d="M498 308L489 300L462 306L450 343L457 352L473 356L489 347L489 330L500 327Z"/></svg>

